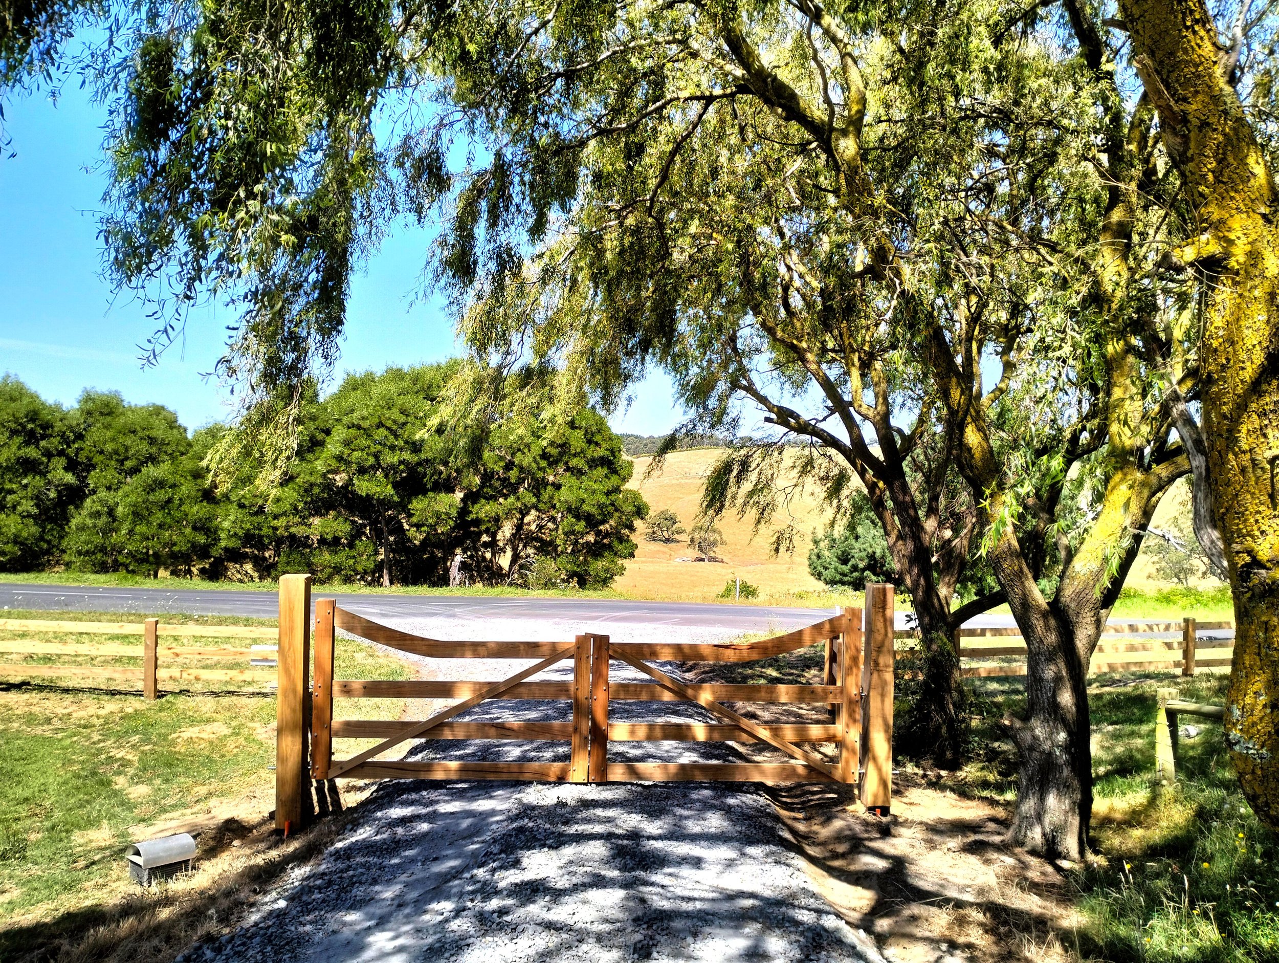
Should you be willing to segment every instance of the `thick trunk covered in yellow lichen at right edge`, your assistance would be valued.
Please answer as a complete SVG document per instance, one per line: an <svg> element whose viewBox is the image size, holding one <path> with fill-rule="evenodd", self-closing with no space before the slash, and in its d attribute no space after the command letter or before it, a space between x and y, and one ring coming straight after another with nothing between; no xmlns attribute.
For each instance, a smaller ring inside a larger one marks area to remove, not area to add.
<svg viewBox="0 0 1279 963"><path fill-rule="evenodd" d="M1207 285L1204 436L1237 638L1227 742L1279 829L1279 198L1204 0L1120 0L1133 60L1198 231L1174 252Z"/></svg>

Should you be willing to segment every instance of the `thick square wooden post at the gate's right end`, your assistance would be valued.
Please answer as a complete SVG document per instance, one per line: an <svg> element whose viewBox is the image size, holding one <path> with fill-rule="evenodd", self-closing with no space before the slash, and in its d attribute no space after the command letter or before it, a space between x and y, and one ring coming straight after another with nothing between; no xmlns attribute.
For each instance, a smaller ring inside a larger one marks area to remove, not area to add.
<svg viewBox="0 0 1279 963"><path fill-rule="evenodd" d="M866 586L862 662L862 804L888 816L893 802L893 586Z"/></svg>

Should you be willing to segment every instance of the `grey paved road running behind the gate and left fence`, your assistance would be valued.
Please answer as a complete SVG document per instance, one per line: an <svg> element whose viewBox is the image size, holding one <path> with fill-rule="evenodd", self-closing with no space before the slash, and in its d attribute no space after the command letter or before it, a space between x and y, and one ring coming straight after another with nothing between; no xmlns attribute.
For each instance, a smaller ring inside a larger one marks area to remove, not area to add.
<svg viewBox="0 0 1279 963"><path fill-rule="evenodd" d="M327 596L326 596L327 597ZM610 599L530 599L423 595L338 595L338 604L371 619L519 619L592 624L648 624L769 632L807 625L834 609L697 602L632 602ZM249 590L184 591L97 586L0 584L0 609L73 611L185 613L271 619L274 592ZM899 613L900 616L900 613Z"/></svg>

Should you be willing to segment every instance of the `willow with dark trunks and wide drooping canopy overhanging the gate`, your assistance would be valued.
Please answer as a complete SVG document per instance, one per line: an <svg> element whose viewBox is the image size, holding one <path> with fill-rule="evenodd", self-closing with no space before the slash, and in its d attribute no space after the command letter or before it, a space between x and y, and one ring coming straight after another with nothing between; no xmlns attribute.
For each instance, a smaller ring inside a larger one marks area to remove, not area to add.
<svg viewBox="0 0 1279 963"><path fill-rule="evenodd" d="M238 295L224 370L286 412L381 226L445 205L435 265L477 352L551 361L606 403L661 364L696 427L756 405L813 442L801 468L834 500L866 489L941 761L954 629L1007 597L1031 652L1016 835L1078 854L1087 659L1186 471L1145 263L1115 267L1124 231L1164 229L1126 206L1124 156L1147 151L1105 64L999 0L499 6L156 19L119 86L118 280L179 308ZM779 478L776 449L739 451L709 508L766 515ZM975 550L1001 588L954 609Z"/></svg>

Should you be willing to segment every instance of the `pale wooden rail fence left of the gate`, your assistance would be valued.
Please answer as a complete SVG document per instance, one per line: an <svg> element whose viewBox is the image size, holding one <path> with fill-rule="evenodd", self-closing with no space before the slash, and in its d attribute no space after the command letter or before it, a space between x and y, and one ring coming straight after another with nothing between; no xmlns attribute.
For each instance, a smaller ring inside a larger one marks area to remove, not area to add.
<svg viewBox="0 0 1279 963"><path fill-rule="evenodd" d="M0 664L0 678L88 678L141 679L142 696L153 700L161 682L275 682L274 645L279 630L252 625L169 625L157 619L143 622L43 622L40 619L0 619L0 632L59 634L141 636L136 643L38 642L35 639L0 639L0 656L84 656L92 659L141 659L141 666L125 665L49 665L35 662ZM270 639L272 645L251 645L246 648L224 646L166 646L169 638L243 638ZM173 660L248 659L249 669L192 669L161 665Z"/></svg>

